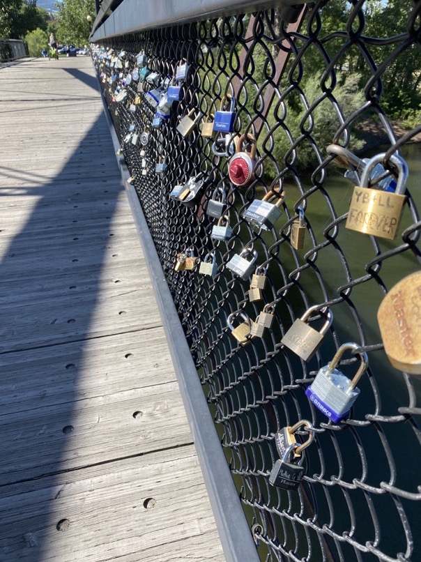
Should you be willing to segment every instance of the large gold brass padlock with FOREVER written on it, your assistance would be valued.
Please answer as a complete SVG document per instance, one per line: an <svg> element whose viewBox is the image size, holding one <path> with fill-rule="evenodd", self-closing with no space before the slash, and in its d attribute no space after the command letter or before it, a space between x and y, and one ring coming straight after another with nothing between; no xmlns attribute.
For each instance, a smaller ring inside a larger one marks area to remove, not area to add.
<svg viewBox="0 0 421 562"><path fill-rule="evenodd" d="M345 226L364 234L393 240L406 201L404 191L408 179L408 167L402 158L390 156L390 161L399 170L395 193L369 188L370 171L378 163L383 162L384 158L385 153L380 153L367 163L362 172L361 185L354 187Z"/></svg>

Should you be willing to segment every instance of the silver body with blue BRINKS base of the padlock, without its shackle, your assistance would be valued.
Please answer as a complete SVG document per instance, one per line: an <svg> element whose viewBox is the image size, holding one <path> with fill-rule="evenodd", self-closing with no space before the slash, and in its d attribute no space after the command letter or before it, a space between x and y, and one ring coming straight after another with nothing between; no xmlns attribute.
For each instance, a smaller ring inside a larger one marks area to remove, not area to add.
<svg viewBox="0 0 421 562"><path fill-rule="evenodd" d="M359 388L351 388L351 380L329 365L322 367L305 394L321 412L335 423L342 420L360 394Z"/></svg>

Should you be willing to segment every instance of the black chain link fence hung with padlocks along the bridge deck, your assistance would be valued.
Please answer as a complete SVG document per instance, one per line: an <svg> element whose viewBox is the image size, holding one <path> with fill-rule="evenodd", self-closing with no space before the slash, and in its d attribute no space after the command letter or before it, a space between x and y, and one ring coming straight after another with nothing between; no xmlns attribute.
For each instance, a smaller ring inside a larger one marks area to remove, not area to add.
<svg viewBox="0 0 421 562"><path fill-rule="evenodd" d="M420 259L419 152L408 142L421 126L397 134L390 100L420 57L421 3L401 3L404 17L370 36L368 15L392 5L319 1L108 38L94 50L262 560L421 559L420 383L390 365L376 320L385 295L419 271ZM165 105L160 85L175 86L180 99ZM232 131L205 126L230 117ZM241 162L231 161L236 150L245 153ZM405 162L394 157L408 160L394 239L346 228L367 164L353 155L363 158L362 150L385 153L381 171L365 174L381 182L383 197L393 177L405 176ZM259 213L253 202L269 193L281 215L259 227L250 205ZM260 293L249 292L247 272L243 279L229 266L244 250L251 274L266 276ZM305 360L302 333L295 344L286 335L311 307L305 324L325 333ZM271 326L250 337L262 312ZM240 341L231 331L238 326ZM305 390L345 342L355 345L340 370L352 378L365 357L368 367L351 411L334 422ZM275 435L300 420L311 425L300 427L298 443L312 441L300 485L271 485Z"/></svg>

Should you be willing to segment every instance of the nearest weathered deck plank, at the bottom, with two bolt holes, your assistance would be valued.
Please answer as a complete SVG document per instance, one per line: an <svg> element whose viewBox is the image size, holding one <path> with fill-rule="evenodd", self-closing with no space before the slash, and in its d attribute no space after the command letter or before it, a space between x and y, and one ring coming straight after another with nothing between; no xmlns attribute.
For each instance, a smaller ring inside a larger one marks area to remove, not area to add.
<svg viewBox="0 0 421 562"><path fill-rule="evenodd" d="M137 457L135 467L130 460L130 468L60 485L43 479L43 488L5 496L0 552L31 562L223 561L197 458L188 452Z"/></svg>

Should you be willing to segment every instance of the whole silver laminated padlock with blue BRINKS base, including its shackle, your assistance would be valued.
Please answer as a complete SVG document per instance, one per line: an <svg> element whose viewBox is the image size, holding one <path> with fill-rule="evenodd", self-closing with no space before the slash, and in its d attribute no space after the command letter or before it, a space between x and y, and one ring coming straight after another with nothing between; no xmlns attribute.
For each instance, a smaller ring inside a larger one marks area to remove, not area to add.
<svg viewBox="0 0 421 562"><path fill-rule="evenodd" d="M305 394L314 406L335 423L349 413L351 406L360 394L360 389L355 387L367 369L368 363L365 351L358 351L361 365L351 381L335 368L347 349L358 351L360 347L355 343L342 344L329 365L321 367L312 384L305 390Z"/></svg>

